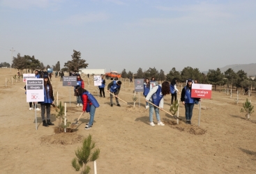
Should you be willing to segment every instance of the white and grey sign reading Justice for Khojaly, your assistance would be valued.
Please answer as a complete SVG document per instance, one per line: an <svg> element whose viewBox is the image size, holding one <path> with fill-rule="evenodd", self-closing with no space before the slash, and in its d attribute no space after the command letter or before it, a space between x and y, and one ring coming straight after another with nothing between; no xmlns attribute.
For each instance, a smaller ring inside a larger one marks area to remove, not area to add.
<svg viewBox="0 0 256 174"><path fill-rule="evenodd" d="M27 102L43 102L44 86L43 79L27 79Z"/></svg>

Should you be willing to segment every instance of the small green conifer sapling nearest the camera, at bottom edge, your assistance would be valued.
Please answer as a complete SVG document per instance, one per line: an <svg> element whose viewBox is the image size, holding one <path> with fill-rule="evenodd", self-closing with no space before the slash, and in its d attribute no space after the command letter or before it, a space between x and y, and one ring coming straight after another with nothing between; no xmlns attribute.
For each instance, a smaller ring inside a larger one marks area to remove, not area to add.
<svg viewBox="0 0 256 174"><path fill-rule="evenodd" d="M95 149L95 143L91 140L91 134L84 139L82 147L75 150L76 158L74 158L71 163L75 171L80 171L80 168L84 166L82 170L83 174L90 172L91 168L86 166L89 161L95 161L100 155L100 149Z"/></svg>

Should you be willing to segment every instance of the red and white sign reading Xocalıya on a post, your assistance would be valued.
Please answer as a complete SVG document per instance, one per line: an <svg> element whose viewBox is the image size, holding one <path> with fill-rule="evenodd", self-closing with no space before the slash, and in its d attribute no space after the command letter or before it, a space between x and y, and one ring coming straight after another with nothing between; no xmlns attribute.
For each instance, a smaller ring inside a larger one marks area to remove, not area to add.
<svg viewBox="0 0 256 174"><path fill-rule="evenodd" d="M211 85L209 84L192 84L191 97L193 98L211 98Z"/></svg>

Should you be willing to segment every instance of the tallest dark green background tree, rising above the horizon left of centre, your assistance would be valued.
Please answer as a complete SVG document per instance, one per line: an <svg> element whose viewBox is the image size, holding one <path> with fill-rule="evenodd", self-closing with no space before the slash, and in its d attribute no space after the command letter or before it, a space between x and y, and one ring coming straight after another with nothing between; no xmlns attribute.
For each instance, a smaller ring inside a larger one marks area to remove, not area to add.
<svg viewBox="0 0 256 174"><path fill-rule="evenodd" d="M86 68L88 66L88 63L85 63L86 61L81 58L81 52L77 52L74 49L71 57L72 60L64 64L64 66L68 68L69 71L79 72L80 69Z"/></svg>

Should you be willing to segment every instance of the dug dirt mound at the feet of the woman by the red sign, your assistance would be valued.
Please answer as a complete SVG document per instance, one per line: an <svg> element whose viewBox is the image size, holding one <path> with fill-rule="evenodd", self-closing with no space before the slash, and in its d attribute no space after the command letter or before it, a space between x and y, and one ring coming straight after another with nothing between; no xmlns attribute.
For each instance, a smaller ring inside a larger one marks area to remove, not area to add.
<svg viewBox="0 0 256 174"><path fill-rule="evenodd" d="M197 127L196 125L186 125L184 122L181 121L179 122L179 125L177 125L176 121L173 120L164 121L164 124L169 125L174 129L178 129L180 132L188 132L195 135L202 135L207 132L207 130Z"/></svg>

